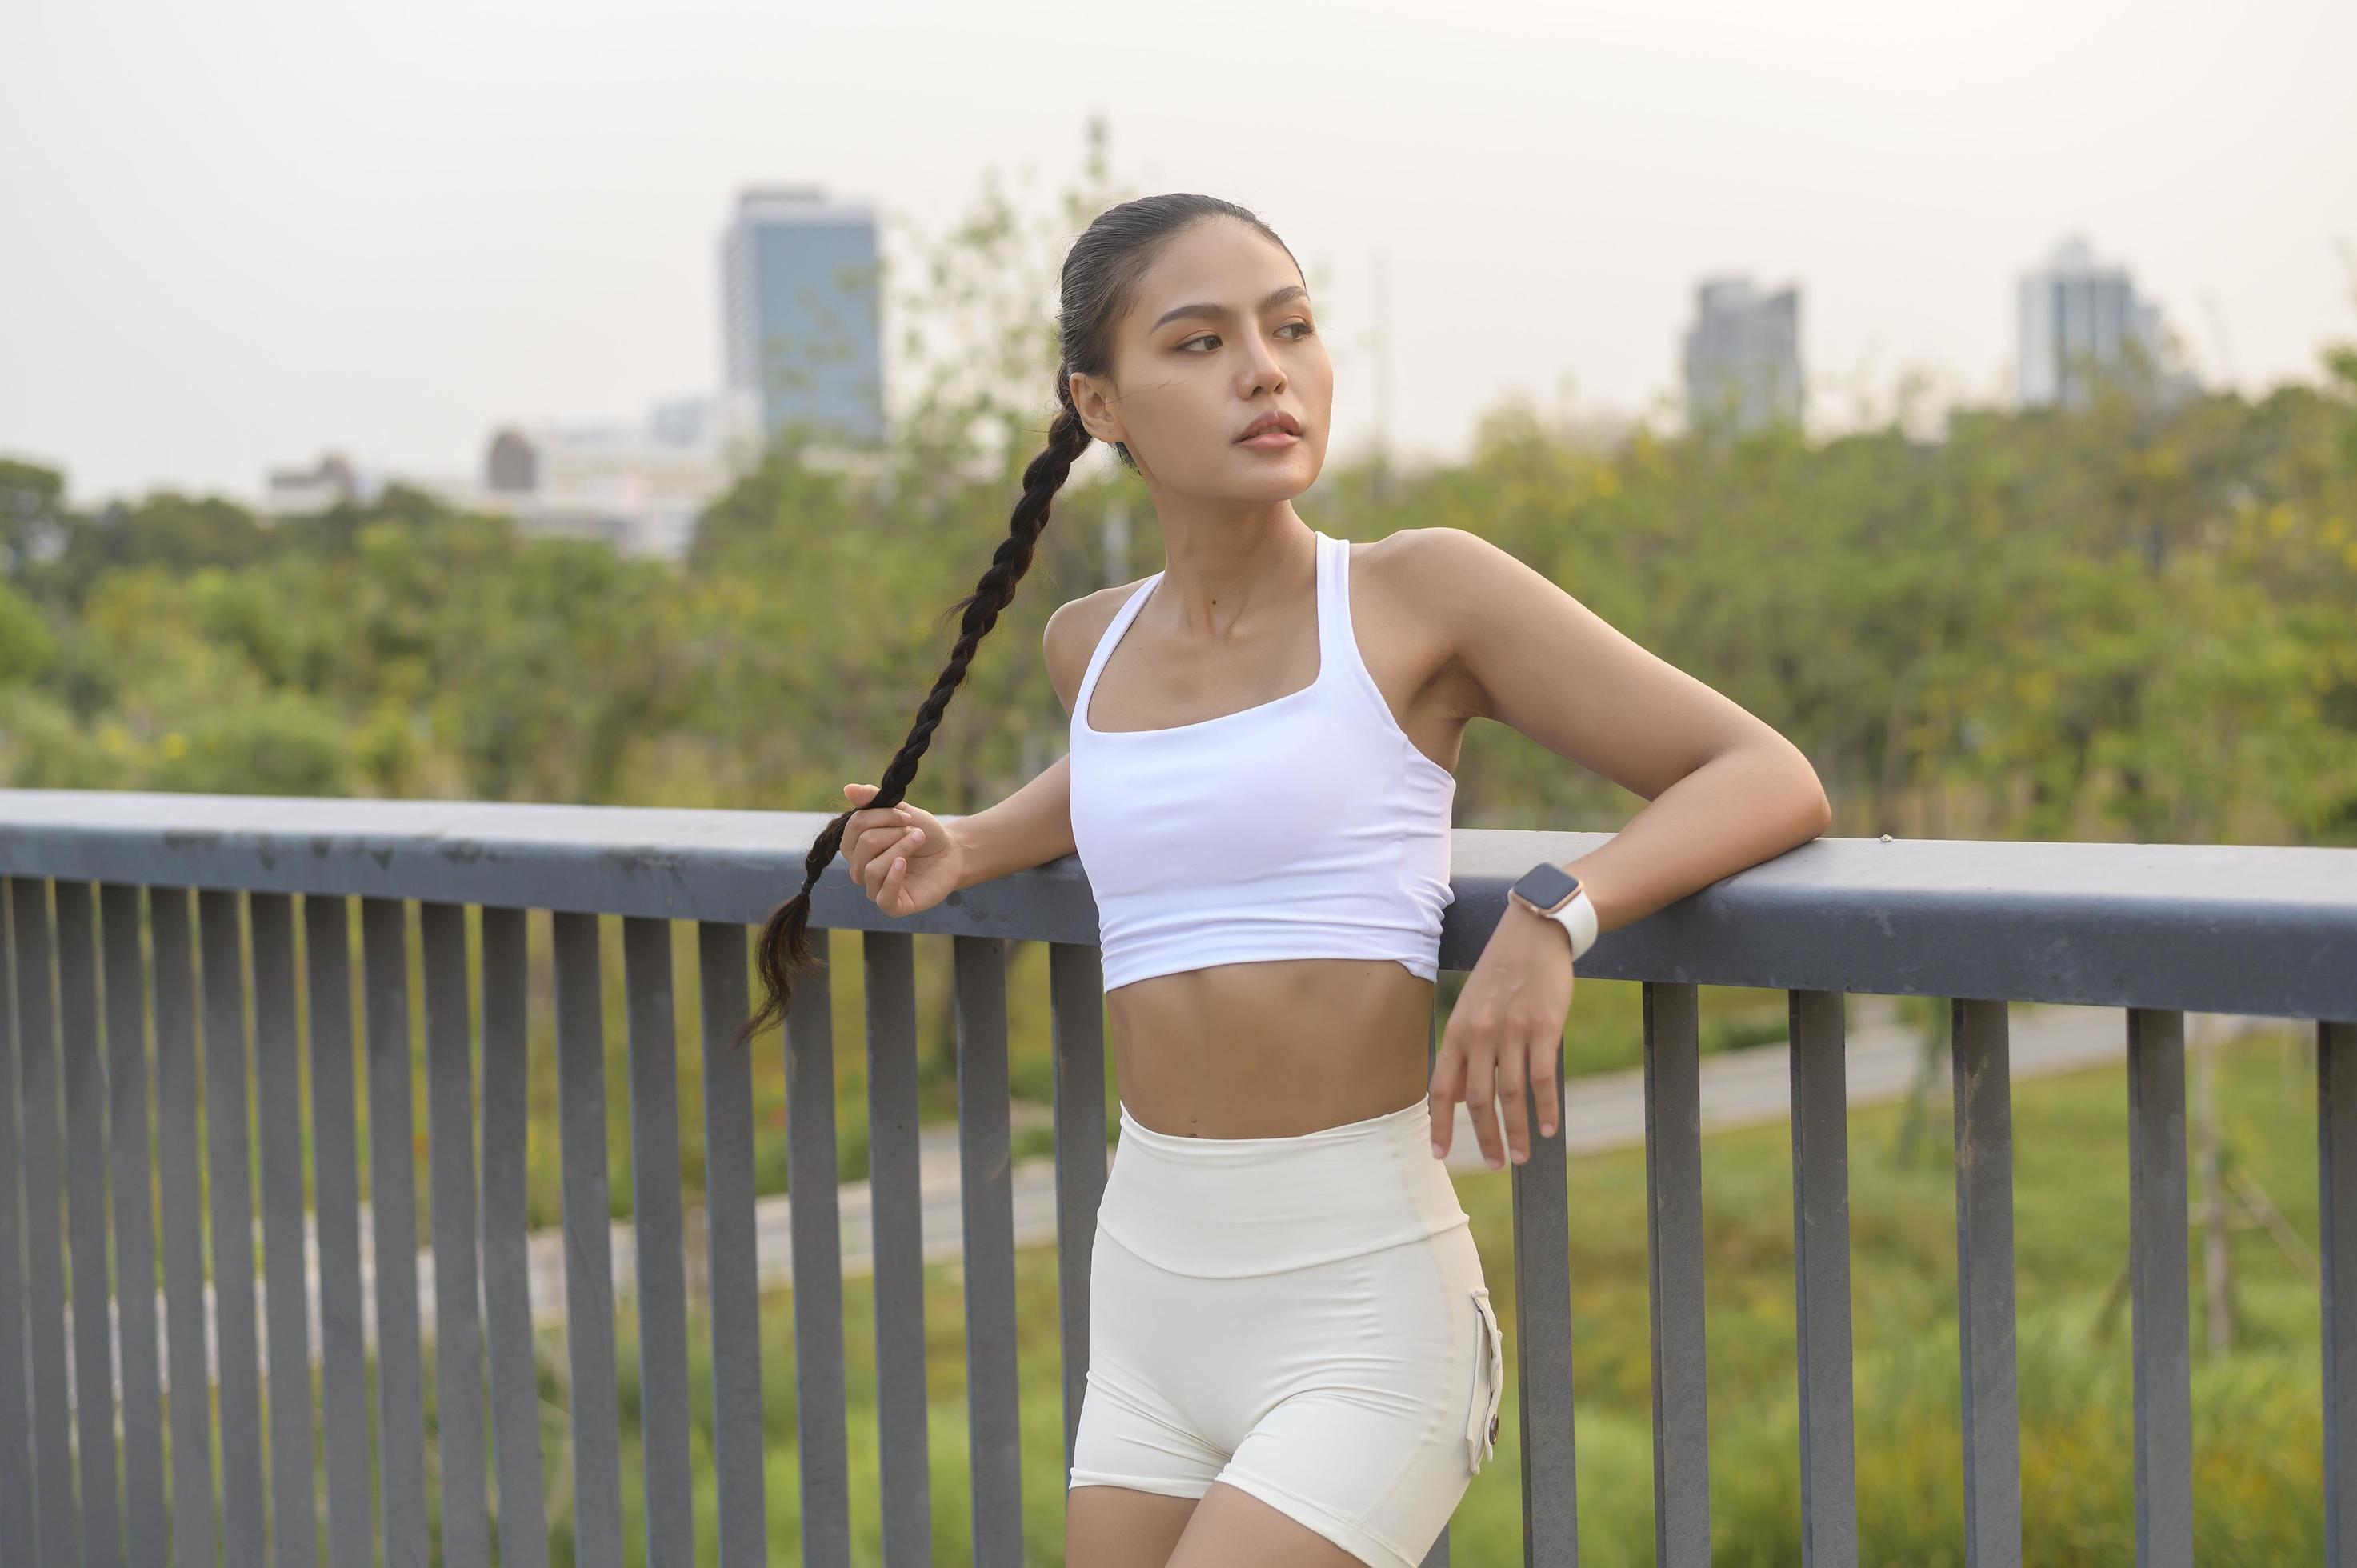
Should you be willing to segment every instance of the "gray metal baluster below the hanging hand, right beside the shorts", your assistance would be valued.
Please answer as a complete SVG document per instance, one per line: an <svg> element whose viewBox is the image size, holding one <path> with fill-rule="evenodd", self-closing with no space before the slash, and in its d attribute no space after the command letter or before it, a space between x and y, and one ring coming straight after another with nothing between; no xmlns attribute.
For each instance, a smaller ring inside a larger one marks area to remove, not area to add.
<svg viewBox="0 0 2357 1568"><path fill-rule="evenodd" d="M1527 870L1527 868L1525 868ZM1556 1082L1563 1037L1556 1035ZM1572 1401L1572 1207L1563 1118L1539 1137L1539 1099L1523 1096L1530 1158L1513 1181L1513 1398L1523 1431L1523 1561L1579 1563L1579 1474ZM1504 1127L1499 1127L1504 1132Z"/></svg>

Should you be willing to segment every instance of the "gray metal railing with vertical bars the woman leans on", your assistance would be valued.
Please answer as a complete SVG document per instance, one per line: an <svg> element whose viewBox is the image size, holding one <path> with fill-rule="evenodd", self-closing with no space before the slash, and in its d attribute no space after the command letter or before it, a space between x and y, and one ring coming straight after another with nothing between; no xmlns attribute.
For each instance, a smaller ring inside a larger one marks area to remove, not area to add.
<svg viewBox="0 0 2357 1568"><path fill-rule="evenodd" d="M585 1566L625 1556L599 974L599 917L615 915L646 1556L693 1561L698 1530L667 924L693 920L705 1019L705 1191L695 1198L717 1370L714 1518L724 1563L766 1561L764 1441L775 1434L764 1431L761 1412L752 1059L728 1037L747 1012L747 927L799 887L823 823L816 813L754 811L0 795L9 960L0 1012L0 1332L9 1335L0 1349L0 1559L111 1568L212 1563L219 1551L226 1563L316 1563L323 1509L332 1568L377 1561L379 1547L387 1563L427 1561L405 908L417 901L441 1556L488 1561L490 1500L542 1497L523 1040L526 913L547 910L575 1556ZM1473 964L1520 870L1570 861L1600 837L1457 830L1442 964ZM467 905L481 908L474 976ZM358 974L349 964L354 917ZM955 950L973 1559L1018 1563L1006 943L1049 948L1070 1460L1105 1184L1096 905L1077 858L1063 858L891 920L837 861L818 887L813 927L823 927L813 929L823 955L832 931L860 931L867 976L882 1528L893 1566L929 1563L933 1530L915 943L945 936ZM250 931L250 957L240 929ZM2022 1561L2006 1004L2124 1009L2135 1540L2138 1561L2154 1566L2192 1561L2185 1012L2317 1021L2326 1542L2333 1561L2357 1566L2357 1280L2348 1273L2357 1236L2343 1236L2357 1226L2357 851L1817 839L1607 934L1582 960L1582 976L1643 981L1659 1563L1709 1563L1697 986L1765 986L1789 993L1791 1016L1805 1561L1857 1559L1843 997L1881 993L1952 1000L1963 1544L1975 1566ZM478 1014L469 1012L469 981ZM354 988L365 1021L358 1040ZM757 1049L773 1042L768 1035ZM834 1049L827 971L804 971L785 1030L785 1141L808 1563L851 1556ZM1577 1493L1563 1129L1541 1139L1532 1127L1530 1148L1527 1165L1508 1167L1523 1537L1525 1561L1570 1563ZM151 1177L158 1212L148 1207ZM210 1205L210 1226L200 1205ZM158 1233L160 1294L151 1264ZM363 1280L372 1280L372 1337L363 1337ZM207 1377L217 1427L207 1401L163 1394L203 1389ZM92 1389L113 1398L73 1398ZM313 1483L313 1436L323 1485ZM167 1497L203 1507L167 1507ZM497 1547L511 1568L544 1563L540 1507L502 1509ZM1428 1561L1447 1561L1447 1537Z"/></svg>

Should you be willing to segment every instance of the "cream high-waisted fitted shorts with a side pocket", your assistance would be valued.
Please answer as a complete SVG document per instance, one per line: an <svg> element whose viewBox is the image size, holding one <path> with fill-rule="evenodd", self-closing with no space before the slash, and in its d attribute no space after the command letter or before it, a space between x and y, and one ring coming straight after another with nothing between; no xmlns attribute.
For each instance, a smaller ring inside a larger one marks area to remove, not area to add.
<svg viewBox="0 0 2357 1568"><path fill-rule="evenodd" d="M1431 1103L1195 1139L1122 1108L1072 1485L1242 1488L1417 1568L1497 1441L1504 1337Z"/></svg>

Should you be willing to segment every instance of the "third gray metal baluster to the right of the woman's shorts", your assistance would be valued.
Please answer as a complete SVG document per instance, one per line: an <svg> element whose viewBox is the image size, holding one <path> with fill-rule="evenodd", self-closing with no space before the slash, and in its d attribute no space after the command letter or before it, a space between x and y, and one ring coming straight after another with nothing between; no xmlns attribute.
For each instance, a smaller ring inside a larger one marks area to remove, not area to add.
<svg viewBox="0 0 2357 1568"><path fill-rule="evenodd" d="M1791 1016L1791 1273L1801 1351L1801 1561L1857 1563L1850 1394L1850 1096L1841 997L1796 990Z"/></svg>

